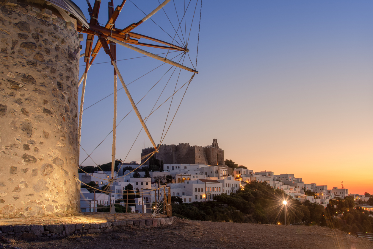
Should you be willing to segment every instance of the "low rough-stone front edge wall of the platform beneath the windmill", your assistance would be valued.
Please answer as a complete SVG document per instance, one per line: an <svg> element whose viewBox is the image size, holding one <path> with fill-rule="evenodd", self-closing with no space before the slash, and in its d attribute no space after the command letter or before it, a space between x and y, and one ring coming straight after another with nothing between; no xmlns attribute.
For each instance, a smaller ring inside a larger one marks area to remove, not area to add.
<svg viewBox="0 0 373 249"><path fill-rule="evenodd" d="M18 237L20 239L58 238L69 234L107 233L125 227L160 227L171 225L173 217L148 220L113 221L90 224L65 225L3 225L0 237Z"/></svg>

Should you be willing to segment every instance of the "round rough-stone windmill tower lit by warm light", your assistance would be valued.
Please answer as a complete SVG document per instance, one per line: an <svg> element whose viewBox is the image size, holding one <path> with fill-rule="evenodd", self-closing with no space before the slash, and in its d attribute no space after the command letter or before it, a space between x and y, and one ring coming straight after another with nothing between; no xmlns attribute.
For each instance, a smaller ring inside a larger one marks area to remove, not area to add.
<svg viewBox="0 0 373 249"><path fill-rule="evenodd" d="M0 2L0 217L78 214L75 30Z"/></svg>

